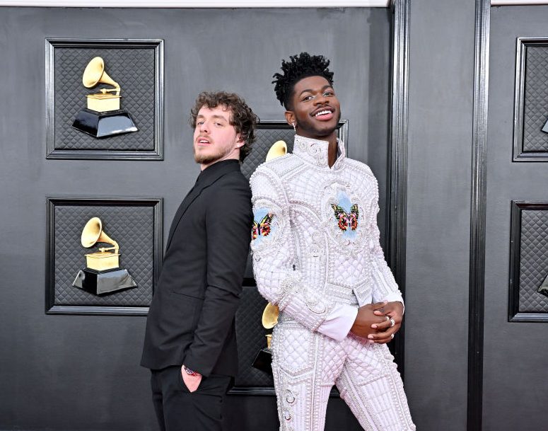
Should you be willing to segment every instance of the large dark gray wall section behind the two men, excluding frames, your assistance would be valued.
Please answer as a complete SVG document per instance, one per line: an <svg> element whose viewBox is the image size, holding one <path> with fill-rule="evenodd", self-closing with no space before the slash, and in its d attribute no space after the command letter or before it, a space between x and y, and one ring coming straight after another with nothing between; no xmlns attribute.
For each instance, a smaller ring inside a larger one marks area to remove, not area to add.
<svg viewBox="0 0 548 431"><path fill-rule="evenodd" d="M45 159L45 38L165 40L164 161ZM187 125L198 91L236 91L282 119L272 74L302 50L332 59L349 154L385 190L389 40L385 9L0 8L0 429L156 429L139 367L145 318L44 314L45 197L163 197L165 239L198 174ZM228 430L277 429L272 397L226 406ZM340 400L327 423L359 429Z"/></svg>

